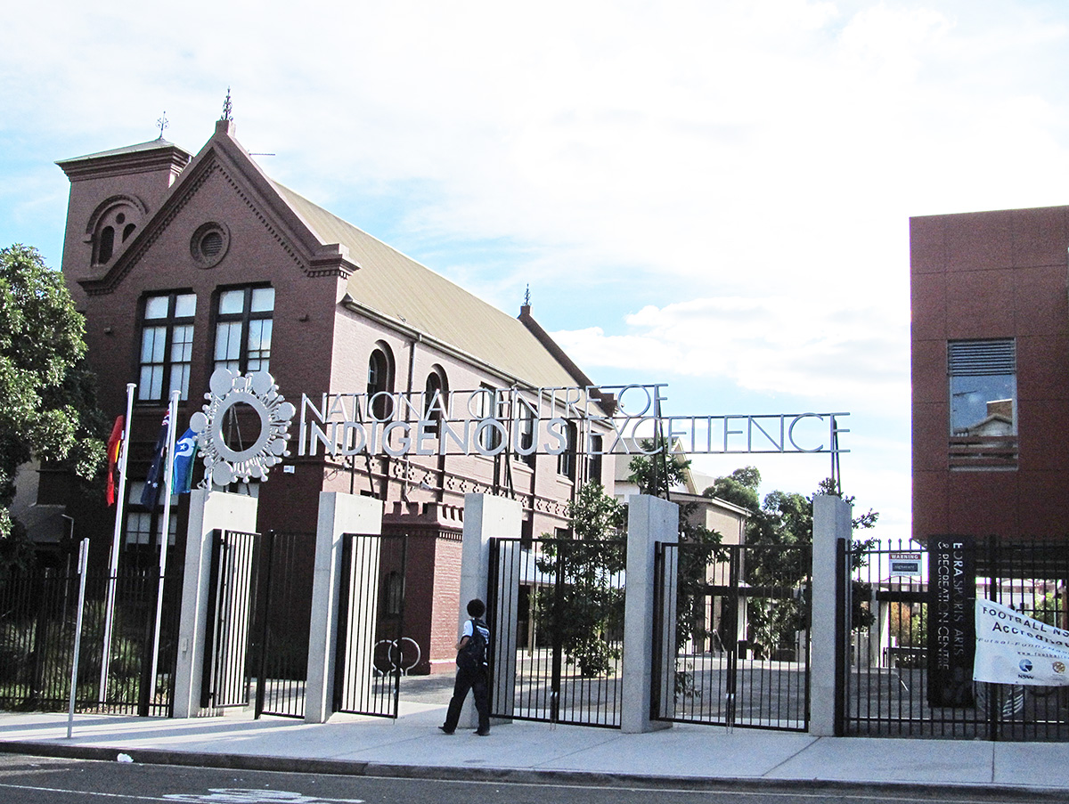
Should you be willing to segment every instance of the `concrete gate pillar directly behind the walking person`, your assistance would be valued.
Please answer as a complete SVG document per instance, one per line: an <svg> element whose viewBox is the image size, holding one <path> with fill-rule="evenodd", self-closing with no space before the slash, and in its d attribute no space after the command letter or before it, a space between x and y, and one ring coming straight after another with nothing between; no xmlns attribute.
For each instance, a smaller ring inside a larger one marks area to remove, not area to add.
<svg viewBox="0 0 1069 804"><path fill-rule="evenodd" d="M495 497L490 494L464 495L464 542L461 547L461 594L456 617L456 634L467 616L467 603L472 598L479 598L487 605L487 581L490 578L490 540L492 538L518 539L523 529L524 511L518 500L506 497ZM502 561L503 563L503 561ZM506 578L499 578L506 582ZM499 700L509 702L507 711L511 711L514 698L516 678L516 624L511 617L505 616L516 610L513 600L518 593L518 584L502 583L507 592L506 600L499 601L498 617L489 623L495 662L503 662L496 667L496 689L492 694ZM490 590L496 593L497 590ZM497 720L497 723L508 722ZM459 722L461 727L477 728L479 715L475 710L471 696L464 701Z"/></svg>

